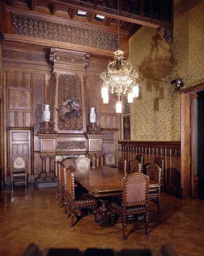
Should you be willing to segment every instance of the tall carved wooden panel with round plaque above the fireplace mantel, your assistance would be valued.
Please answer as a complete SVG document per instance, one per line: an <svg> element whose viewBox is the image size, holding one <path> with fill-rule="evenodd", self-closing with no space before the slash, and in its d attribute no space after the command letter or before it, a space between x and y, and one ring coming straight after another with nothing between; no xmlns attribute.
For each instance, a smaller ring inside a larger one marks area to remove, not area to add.
<svg viewBox="0 0 204 256"><path fill-rule="evenodd" d="M80 77L61 74L58 78L58 88L58 128L67 131L81 131L83 128L83 116ZM68 110L67 113L62 110L65 107Z"/></svg>

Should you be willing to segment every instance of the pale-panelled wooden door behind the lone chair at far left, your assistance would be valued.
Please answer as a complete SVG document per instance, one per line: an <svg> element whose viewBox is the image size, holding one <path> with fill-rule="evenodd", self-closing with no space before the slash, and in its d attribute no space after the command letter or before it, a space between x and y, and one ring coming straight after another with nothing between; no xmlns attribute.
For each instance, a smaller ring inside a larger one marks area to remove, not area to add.
<svg viewBox="0 0 204 256"><path fill-rule="evenodd" d="M9 130L9 143L8 143L8 162L10 164L10 174L12 172L12 157L13 156L24 156L27 159L27 173L28 182L31 182L31 130L28 129L11 129ZM7 178L7 182L8 178Z"/></svg>

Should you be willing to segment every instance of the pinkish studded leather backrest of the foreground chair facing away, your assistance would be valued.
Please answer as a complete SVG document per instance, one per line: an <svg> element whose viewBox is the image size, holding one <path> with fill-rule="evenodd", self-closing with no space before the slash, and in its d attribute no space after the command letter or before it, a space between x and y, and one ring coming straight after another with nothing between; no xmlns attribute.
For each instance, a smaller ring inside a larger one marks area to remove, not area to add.
<svg viewBox="0 0 204 256"><path fill-rule="evenodd" d="M123 178L123 203L145 204L148 201L149 178L142 173L132 173Z"/></svg>

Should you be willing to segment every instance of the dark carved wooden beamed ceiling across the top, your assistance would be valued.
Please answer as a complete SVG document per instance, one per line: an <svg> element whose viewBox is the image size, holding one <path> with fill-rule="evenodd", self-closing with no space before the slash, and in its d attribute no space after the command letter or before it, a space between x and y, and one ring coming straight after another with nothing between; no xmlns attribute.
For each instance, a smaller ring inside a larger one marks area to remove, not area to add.
<svg viewBox="0 0 204 256"><path fill-rule="evenodd" d="M1 0L0 7L29 15L34 13L44 18L48 15L61 20L73 20L106 30L119 29L126 32L128 38L141 26L156 27L166 42L172 44L172 2L119 0L119 12L118 0Z"/></svg>

